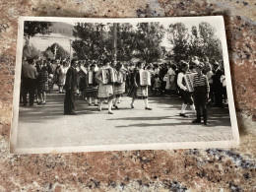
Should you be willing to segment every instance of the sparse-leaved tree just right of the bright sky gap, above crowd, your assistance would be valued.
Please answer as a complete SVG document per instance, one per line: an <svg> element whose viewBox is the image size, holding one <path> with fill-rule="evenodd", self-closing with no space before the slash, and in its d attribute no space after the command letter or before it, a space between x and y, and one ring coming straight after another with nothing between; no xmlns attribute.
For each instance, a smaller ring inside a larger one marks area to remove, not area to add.
<svg viewBox="0 0 256 192"><path fill-rule="evenodd" d="M188 29L182 23L169 25L167 39L173 45L172 57L175 62L188 59L189 34Z"/></svg>

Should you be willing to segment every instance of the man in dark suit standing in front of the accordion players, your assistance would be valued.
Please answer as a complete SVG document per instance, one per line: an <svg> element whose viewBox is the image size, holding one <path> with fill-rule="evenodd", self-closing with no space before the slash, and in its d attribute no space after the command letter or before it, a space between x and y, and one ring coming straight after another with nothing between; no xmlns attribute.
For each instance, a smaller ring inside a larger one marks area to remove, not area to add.
<svg viewBox="0 0 256 192"><path fill-rule="evenodd" d="M78 60L72 59L71 67L68 69L66 75L66 96L64 100L64 114L76 115L75 112L75 96L78 89L78 72L76 67L78 65Z"/></svg>

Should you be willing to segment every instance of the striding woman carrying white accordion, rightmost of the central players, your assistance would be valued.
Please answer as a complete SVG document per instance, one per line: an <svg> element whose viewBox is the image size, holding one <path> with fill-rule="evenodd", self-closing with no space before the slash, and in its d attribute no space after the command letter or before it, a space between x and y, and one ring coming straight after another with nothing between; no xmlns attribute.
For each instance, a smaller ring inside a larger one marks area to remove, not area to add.
<svg viewBox="0 0 256 192"><path fill-rule="evenodd" d="M131 108L134 108L134 101L136 98L143 99L145 102L145 109L146 110L152 110L152 108L149 107L149 100L148 100L148 86L141 86L140 85L140 72L143 72L144 64L142 62L137 63L137 68L134 69L134 75L133 75L133 86L128 91L127 96L132 97L132 103Z"/></svg>

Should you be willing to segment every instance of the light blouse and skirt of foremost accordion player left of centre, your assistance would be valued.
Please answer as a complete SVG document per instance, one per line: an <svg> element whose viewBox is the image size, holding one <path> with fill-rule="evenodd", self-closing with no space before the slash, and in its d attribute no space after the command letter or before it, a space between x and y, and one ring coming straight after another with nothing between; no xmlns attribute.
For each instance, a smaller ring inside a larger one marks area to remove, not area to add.
<svg viewBox="0 0 256 192"><path fill-rule="evenodd" d="M108 68L111 68L111 67L103 67L103 68L99 69L96 76L101 77L102 69L108 69ZM101 79L102 79L102 77L101 77ZM104 99L104 98L113 97L113 94L114 94L113 93L113 85L110 85L110 84L104 85L103 83L99 82L98 90L97 90L98 98Z"/></svg>

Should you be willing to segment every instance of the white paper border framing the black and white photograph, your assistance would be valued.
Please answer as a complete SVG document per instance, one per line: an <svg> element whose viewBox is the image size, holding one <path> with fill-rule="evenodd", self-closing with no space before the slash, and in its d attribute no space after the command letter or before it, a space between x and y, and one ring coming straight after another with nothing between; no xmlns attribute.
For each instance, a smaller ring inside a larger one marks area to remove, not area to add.
<svg viewBox="0 0 256 192"><path fill-rule="evenodd" d="M76 146L76 147L50 147L50 148L30 148L19 149L17 146L18 121L19 121L19 97L21 84L21 68L23 56L23 36L24 23L26 21L37 22L77 22L77 23L149 23L149 22L189 22L207 21L218 22L219 29L222 32L220 36L222 41L224 56L224 72L226 82L226 92L228 98L228 109L231 123L233 139L229 141L210 141L210 142L176 142L176 143L151 143L151 144L120 144L120 145L98 145L98 146ZM207 149L207 148L237 148L239 146L239 132L233 100L231 85L231 75L228 61L228 52L226 45L226 36L224 29L223 16L200 16L200 17L173 17L173 18L61 18L61 17L20 17L18 26L17 53L15 66L15 83L13 98L13 119L10 136L11 154L58 154L75 152L102 152L102 151L130 151L130 150L172 150L172 149Z"/></svg>

